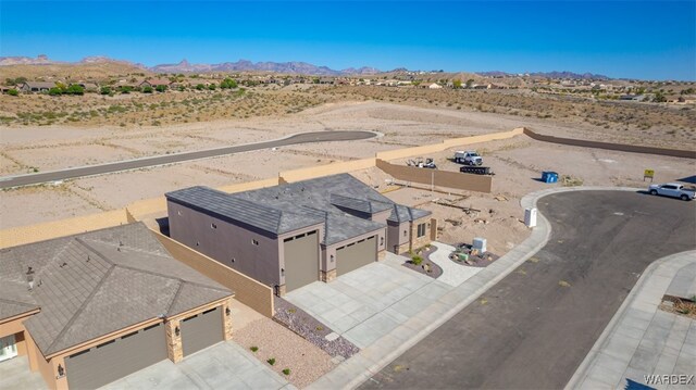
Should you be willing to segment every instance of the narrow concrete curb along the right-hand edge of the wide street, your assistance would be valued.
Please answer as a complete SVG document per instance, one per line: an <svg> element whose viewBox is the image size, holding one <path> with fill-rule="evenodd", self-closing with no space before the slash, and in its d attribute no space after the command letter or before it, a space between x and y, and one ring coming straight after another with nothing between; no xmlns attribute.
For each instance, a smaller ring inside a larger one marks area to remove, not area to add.
<svg viewBox="0 0 696 390"><path fill-rule="evenodd" d="M579 385L582 385L582 381L587 377L587 374L589 373L589 367L592 366L593 362L601 351L601 347L607 341L609 336L613 334L613 330L617 328L619 322L622 319L625 311L633 303L636 295L641 293L641 290L649 281L650 277L652 277L652 274L655 274L655 272L666 263L669 263L674 260L679 260L682 256L686 256L691 254L696 255L696 251L694 250L684 251L684 252L673 253L664 257L660 257L654 261L652 263L650 263L647 266L647 268L645 268L645 271L641 275L641 278L638 278L638 281L636 281L635 286L633 286L633 288L631 289L631 292L629 292L629 295L623 300L623 303L621 303L621 306L619 306L619 310L617 311L617 313L613 315L613 317L611 317L611 320L605 327L605 330L602 330L601 335L599 335L599 338L597 339L597 341L594 343L594 345L592 345L592 349L589 350L589 352L587 353L583 362L580 364L580 366L577 366L575 374L573 374L573 376L570 378L570 380L566 385L564 387L566 390L576 389Z"/></svg>

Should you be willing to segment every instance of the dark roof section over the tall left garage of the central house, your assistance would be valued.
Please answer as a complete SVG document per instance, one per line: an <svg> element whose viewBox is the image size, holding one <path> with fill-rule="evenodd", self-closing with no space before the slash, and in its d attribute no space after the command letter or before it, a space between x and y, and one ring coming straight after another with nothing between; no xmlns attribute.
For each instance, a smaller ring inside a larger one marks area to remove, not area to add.
<svg viewBox="0 0 696 390"><path fill-rule="evenodd" d="M208 187L190 187L167 192L166 199L201 212L237 221L274 235L318 225L323 219L282 211L260 202L231 196Z"/></svg>

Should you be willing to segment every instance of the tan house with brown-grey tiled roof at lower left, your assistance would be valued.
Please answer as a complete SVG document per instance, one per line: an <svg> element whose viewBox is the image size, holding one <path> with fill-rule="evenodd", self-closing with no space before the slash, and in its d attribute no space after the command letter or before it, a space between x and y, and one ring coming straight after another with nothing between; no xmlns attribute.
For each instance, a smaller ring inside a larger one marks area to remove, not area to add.
<svg viewBox="0 0 696 390"><path fill-rule="evenodd" d="M94 389L228 340L233 297L141 223L0 250L3 356L26 356L50 389Z"/></svg>

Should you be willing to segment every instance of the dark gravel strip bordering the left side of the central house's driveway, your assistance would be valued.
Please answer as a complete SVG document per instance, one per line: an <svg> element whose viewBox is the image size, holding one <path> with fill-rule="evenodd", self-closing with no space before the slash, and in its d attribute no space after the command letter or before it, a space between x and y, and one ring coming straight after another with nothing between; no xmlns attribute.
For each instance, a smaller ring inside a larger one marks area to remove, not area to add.
<svg viewBox="0 0 696 390"><path fill-rule="evenodd" d="M274 299L275 316L273 318L331 356L341 356L339 360L345 360L360 352L358 347L334 334L331 328L303 310L279 297L274 297ZM328 338L326 338L327 336Z"/></svg>

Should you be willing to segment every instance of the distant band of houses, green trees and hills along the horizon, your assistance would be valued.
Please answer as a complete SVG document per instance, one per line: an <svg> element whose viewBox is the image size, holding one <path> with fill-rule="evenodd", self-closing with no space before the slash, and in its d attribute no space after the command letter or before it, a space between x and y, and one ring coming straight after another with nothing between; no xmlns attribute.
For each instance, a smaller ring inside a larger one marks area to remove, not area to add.
<svg viewBox="0 0 696 390"><path fill-rule="evenodd" d="M5 58L2 64L10 61L8 59L11 60L12 58ZM33 59L28 60L38 61ZM42 61L52 63L48 59L42 59ZM109 59L100 59L97 62L103 64L119 63ZM8 62L8 64L12 63L13 62ZM71 66L82 66L84 64L92 64L92 62L77 63ZM257 65L263 65L261 67L265 67L268 71L231 71L234 68L245 68L244 66L251 66L253 68ZM138 67L130 68L139 70ZM203 68L211 72L192 72ZM78 80L58 76L42 76L35 79L20 76L5 78L2 85L0 85L0 91L11 96L18 96L20 93L47 93L54 97L63 95L80 96L85 93L114 96L133 92L204 92L219 89L254 87L284 88L295 85L316 85L376 86L431 90L524 89L532 90L536 93L588 97L599 100L696 103L696 83L694 81L610 79L601 75L577 75L570 72L509 74L502 72L445 73L443 71L394 70L381 73L378 70L368 67L332 71L306 63L252 64L245 61L206 66L202 64L191 65L183 61L179 64L173 65L158 65L152 68L142 67L142 71L141 73L129 73L119 77L86 77ZM316 73L311 74L303 72Z"/></svg>

